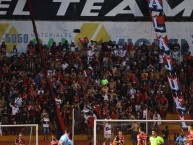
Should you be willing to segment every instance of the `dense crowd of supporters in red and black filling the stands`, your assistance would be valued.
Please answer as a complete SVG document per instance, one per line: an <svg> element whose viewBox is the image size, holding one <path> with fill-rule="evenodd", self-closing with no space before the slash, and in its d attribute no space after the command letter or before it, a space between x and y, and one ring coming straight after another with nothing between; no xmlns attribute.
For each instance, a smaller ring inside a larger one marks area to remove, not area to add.
<svg viewBox="0 0 193 145"><path fill-rule="evenodd" d="M26 47L26 53L20 53L14 46L9 57L6 44L0 47L2 124L42 124L46 112L54 132L56 112L49 85L66 125L71 125L75 109L76 133L83 127L92 128L94 118L156 120L175 110L163 52L156 43L91 41L83 48L67 41L54 42L51 48L41 45L46 73L37 45L30 42ZM193 116L193 57L189 45L185 42L181 47L176 42L170 49L179 93L184 97L181 105Z"/></svg>

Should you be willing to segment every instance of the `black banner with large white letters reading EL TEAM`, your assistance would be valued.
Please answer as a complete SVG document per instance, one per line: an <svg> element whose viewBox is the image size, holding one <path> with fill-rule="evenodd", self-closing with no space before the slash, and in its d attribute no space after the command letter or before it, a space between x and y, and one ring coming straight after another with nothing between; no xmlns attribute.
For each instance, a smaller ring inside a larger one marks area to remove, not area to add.
<svg viewBox="0 0 193 145"><path fill-rule="evenodd" d="M27 0L0 0L0 19L29 20ZM169 21L193 21L192 0L148 0ZM151 21L146 0L33 0L36 20Z"/></svg>

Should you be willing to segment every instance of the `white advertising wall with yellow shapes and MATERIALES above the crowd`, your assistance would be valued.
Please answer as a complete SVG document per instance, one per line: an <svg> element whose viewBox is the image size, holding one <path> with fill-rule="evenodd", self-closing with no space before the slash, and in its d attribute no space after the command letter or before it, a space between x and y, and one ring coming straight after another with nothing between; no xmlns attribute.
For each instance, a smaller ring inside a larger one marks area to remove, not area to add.
<svg viewBox="0 0 193 145"><path fill-rule="evenodd" d="M68 40L74 41L76 45L82 47L80 38L87 37L93 41L116 41L120 44L133 42L134 45L146 41L158 43L151 22L59 22L59 21L37 21L39 38L43 45L50 47L53 42L64 43ZM177 41L180 45L185 40L188 41L193 53L193 23L190 22L168 22L167 34L169 42ZM74 29L80 29L80 33L74 33ZM88 31L89 30L89 31ZM178 30L178 31L176 31ZM158 36L159 37L159 36ZM8 52L16 45L20 52L25 52L30 40L35 40L31 21L1 21L0 41L5 41ZM167 49L165 38L160 37L160 46Z"/></svg>

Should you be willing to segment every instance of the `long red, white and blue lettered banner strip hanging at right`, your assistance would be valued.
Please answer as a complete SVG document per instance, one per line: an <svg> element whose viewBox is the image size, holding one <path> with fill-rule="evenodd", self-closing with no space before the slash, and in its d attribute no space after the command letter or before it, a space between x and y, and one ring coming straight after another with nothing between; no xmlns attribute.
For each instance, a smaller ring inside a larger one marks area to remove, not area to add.
<svg viewBox="0 0 193 145"><path fill-rule="evenodd" d="M158 40L158 46L162 52L164 67L167 72L168 83L173 95L173 100L176 104L176 110L180 112L179 119L184 120L187 118L188 110L187 107L184 107L180 100L184 99L182 94L182 89L180 88L180 83L178 81L177 73L173 67L173 60L172 53L169 47L169 41L166 32L166 25L165 25L165 15L163 9L163 1L162 0L147 0L149 12L151 13L152 23L154 26L154 31L156 33L156 37ZM185 122L182 122L182 128L186 128L187 125Z"/></svg>

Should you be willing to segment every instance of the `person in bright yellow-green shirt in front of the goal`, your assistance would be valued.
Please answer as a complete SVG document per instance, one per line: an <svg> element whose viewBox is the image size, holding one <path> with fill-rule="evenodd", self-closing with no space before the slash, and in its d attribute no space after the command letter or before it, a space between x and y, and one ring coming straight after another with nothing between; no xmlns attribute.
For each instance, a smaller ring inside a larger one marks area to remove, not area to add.
<svg viewBox="0 0 193 145"><path fill-rule="evenodd" d="M157 136L156 131L152 131L152 136L149 138L151 145L163 145L164 139L161 136Z"/></svg>

